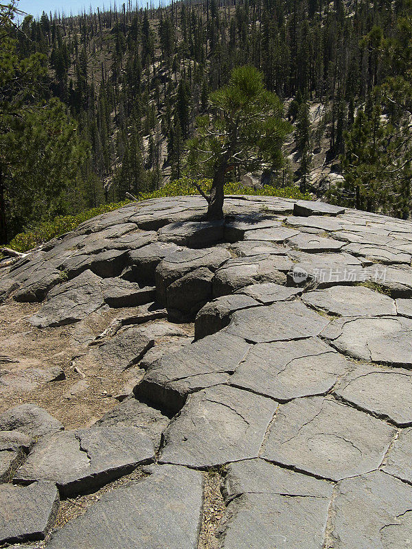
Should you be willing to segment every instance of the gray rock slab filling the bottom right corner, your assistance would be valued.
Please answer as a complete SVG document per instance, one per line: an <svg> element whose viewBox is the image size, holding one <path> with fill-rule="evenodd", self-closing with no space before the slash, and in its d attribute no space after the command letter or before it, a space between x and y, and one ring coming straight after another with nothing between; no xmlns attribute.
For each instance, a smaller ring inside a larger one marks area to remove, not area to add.
<svg viewBox="0 0 412 549"><path fill-rule="evenodd" d="M411 546L412 487L373 471L337 485L330 547L407 549Z"/></svg>

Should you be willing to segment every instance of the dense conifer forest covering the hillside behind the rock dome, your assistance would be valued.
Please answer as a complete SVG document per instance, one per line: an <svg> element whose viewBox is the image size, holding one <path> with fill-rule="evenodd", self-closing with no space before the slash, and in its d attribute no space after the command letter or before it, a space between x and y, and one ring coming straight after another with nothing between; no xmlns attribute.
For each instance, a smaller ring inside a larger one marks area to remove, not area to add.
<svg viewBox="0 0 412 549"><path fill-rule="evenodd" d="M37 19L16 1L0 13L0 242L213 176L191 150L244 66L276 102L276 162L222 177L410 217L409 0L128 1Z"/></svg>

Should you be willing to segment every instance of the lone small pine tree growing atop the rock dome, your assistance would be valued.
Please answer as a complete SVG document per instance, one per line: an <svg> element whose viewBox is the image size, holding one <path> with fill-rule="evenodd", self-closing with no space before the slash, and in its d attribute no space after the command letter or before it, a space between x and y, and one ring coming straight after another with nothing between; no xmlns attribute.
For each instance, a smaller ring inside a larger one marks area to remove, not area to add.
<svg viewBox="0 0 412 549"><path fill-rule="evenodd" d="M211 194L200 188L209 207L207 218L223 218L225 176L235 168L282 166L282 145L291 127L282 118L279 97L266 90L255 67L233 69L229 84L209 95L210 114L198 117L194 138L187 141L187 165L195 176L211 176Z"/></svg>

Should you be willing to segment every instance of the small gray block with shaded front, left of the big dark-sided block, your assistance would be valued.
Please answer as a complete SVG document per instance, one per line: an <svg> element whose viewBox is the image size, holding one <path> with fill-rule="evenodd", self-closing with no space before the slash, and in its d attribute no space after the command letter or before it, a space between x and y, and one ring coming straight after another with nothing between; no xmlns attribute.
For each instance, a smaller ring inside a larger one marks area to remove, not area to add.
<svg viewBox="0 0 412 549"><path fill-rule="evenodd" d="M123 279L104 279L102 288L104 301L109 307L138 307L152 303L156 298L154 286L141 288L139 284Z"/></svg>

